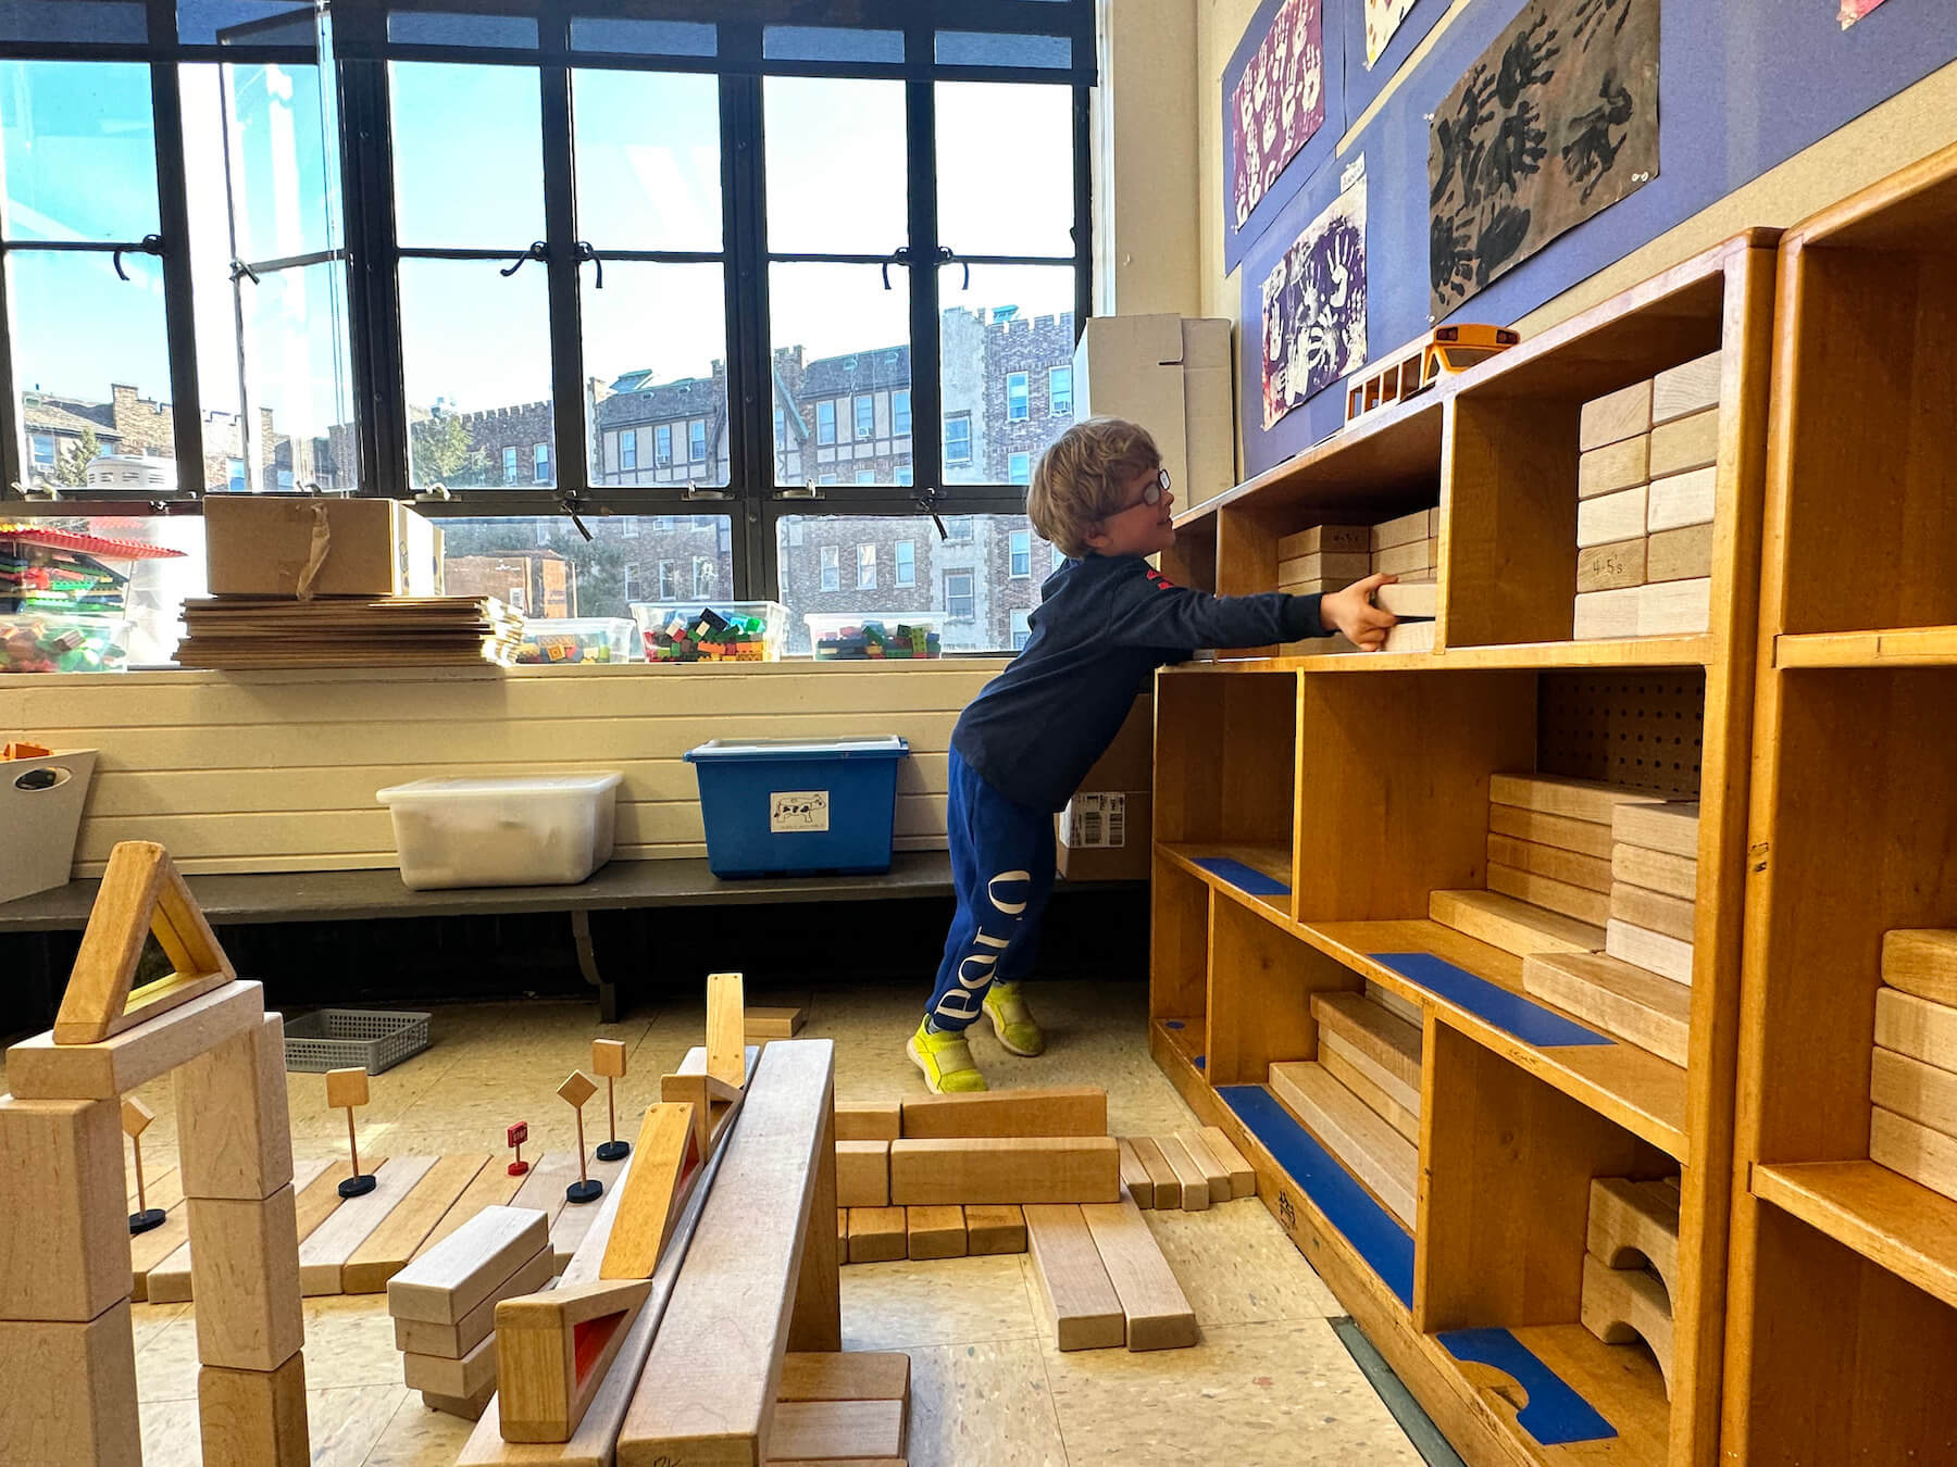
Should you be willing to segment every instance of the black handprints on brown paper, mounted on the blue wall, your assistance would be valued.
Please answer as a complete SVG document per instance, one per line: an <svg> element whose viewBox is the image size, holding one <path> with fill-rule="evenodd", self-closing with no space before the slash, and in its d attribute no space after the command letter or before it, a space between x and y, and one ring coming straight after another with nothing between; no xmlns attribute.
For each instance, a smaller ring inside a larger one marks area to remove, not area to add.
<svg viewBox="0 0 1957 1467"><path fill-rule="evenodd" d="M1658 0L1534 0L1434 110L1434 319L1658 176Z"/></svg>

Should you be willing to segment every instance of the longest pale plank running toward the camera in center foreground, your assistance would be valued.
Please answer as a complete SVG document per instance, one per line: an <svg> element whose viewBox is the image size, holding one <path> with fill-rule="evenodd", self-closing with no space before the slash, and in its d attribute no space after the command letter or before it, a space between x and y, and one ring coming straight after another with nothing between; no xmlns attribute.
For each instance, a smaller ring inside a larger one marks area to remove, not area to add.
<svg viewBox="0 0 1957 1467"><path fill-rule="evenodd" d="M618 1467L767 1459L816 1168L830 1164L834 1076L826 1039L763 1050L626 1408Z"/></svg>

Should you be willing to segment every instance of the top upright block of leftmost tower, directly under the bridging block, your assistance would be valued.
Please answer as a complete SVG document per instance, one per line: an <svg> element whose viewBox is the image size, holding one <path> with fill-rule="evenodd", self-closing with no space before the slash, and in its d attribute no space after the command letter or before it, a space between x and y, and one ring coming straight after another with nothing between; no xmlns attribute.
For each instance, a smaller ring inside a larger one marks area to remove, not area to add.
<svg viewBox="0 0 1957 1467"><path fill-rule="evenodd" d="M0 1097L0 1318L86 1324L129 1297L121 1136L115 1099Z"/></svg>

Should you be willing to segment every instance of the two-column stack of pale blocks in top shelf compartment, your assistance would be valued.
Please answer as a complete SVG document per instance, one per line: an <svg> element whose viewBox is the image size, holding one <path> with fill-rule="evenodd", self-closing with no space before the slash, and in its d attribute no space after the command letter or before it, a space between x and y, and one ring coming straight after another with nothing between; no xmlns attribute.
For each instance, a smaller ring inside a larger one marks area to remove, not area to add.
<svg viewBox="0 0 1957 1467"><path fill-rule="evenodd" d="M1720 354L1583 405L1575 640L1705 632Z"/></svg>

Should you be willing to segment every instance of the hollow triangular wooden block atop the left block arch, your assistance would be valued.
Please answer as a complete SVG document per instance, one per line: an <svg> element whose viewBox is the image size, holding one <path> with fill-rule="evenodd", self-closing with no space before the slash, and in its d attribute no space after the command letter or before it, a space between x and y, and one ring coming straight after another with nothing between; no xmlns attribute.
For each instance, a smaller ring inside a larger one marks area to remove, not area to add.
<svg viewBox="0 0 1957 1467"><path fill-rule="evenodd" d="M176 972L133 988L151 935ZM110 851L102 872L68 992L55 1015L55 1043L100 1045L233 980L231 960L170 865L170 853L149 841L123 841Z"/></svg>

